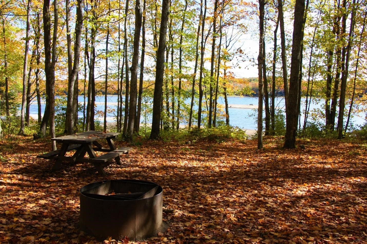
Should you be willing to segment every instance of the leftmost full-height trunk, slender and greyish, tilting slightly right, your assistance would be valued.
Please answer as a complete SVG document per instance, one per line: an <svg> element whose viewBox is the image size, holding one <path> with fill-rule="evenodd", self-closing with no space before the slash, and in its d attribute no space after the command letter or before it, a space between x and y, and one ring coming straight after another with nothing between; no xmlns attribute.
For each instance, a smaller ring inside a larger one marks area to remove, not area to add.
<svg viewBox="0 0 367 244"><path fill-rule="evenodd" d="M25 51L24 51L24 64L23 64L23 93L22 93L22 110L21 110L21 128L19 135L24 135L25 128L25 106L26 106L26 89L27 89L27 65L28 65L28 49L29 49L29 19L30 19L30 2L27 4L27 23L26 23L26 34L25 34Z"/></svg>

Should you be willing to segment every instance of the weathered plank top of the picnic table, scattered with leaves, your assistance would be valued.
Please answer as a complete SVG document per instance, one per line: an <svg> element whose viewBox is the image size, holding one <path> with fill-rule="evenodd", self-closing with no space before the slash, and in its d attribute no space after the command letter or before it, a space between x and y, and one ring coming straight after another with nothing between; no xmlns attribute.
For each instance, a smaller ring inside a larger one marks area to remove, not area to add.
<svg viewBox="0 0 367 244"><path fill-rule="evenodd" d="M115 137L115 136L118 136L119 134L120 134L119 132L103 133L101 131L90 130L90 131L72 134L68 136L51 138L51 140L58 141L61 143L80 144L80 143L91 143L93 141L98 141L100 139Z"/></svg>

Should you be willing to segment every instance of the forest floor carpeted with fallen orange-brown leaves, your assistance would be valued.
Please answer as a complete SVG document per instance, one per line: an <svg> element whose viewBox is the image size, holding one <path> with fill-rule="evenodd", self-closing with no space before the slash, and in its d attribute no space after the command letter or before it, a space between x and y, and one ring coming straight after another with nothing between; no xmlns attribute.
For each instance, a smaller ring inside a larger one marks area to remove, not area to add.
<svg viewBox="0 0 367 244"><path fill-rule="evenodd" d="M163 187L168 229L134 243L367 243L366 141L298 144L305 149L282 149L278 137L265 137L264 150L256 140L144 141L103 177L87 163L52 172L36 158L49 139L2 141L0 243L116 243L79 227L80 188L106 179Z"/></svg>

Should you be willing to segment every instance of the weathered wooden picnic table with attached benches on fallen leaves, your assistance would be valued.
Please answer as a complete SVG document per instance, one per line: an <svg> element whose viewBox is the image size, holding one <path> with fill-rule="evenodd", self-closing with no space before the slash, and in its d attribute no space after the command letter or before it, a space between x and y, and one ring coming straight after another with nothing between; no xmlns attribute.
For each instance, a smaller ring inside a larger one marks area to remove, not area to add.
<svg viewBox="0 0 367 244"><path fill-rule="evenodd" d="M94 167L97 169L99 174L106 175L102 164L111 159L115 159L116 163L121 165L120 155L127 154L132 149L130 147L121 147L116 149L115 143L113 143L112 139L116 138L119 134L120 133L118 132L103 133L101 131L91 130L68 136L51 138L52 141L62 143L61 148L37 157L55 159L56 161L52 170L60 169L62 161L88 162L94 164ZM101 139L107 141L109 148L104 148L98 142ZM75 153L72 156L66 156L66 152L72 150L75 150ZM107 153L97 157L95 154L96 151ZM88 157L85 158L85 155L88 155Z"/></svg>

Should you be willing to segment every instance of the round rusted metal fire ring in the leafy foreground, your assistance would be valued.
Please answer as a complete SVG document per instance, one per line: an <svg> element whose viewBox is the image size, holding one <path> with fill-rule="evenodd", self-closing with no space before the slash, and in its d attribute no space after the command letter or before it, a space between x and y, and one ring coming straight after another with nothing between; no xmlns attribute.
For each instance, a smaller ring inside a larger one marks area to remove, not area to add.
<svg viewBox="0 0 367 244"><path fill-rule="evenodd" d="M96 237L154 236L162 224L162 200L161 186L149 181L94 182L80 189L80 225Z"/></svg>

